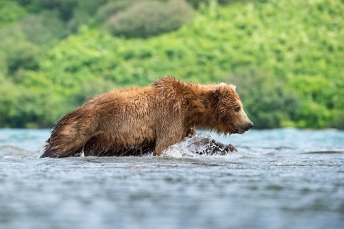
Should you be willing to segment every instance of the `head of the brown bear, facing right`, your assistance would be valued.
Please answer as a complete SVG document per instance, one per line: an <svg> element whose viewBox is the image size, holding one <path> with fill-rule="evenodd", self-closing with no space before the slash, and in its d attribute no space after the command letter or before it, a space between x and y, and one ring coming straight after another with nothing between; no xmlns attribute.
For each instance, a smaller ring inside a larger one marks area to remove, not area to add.
<svg viewBox="0 0 344 229"><path fill-rule="evenodd" d="M243 104L235 91L235 86L219 84L212 89L214 103L214 123L218 132L225 134L243 134L254 125L243 109Z"/></svg>

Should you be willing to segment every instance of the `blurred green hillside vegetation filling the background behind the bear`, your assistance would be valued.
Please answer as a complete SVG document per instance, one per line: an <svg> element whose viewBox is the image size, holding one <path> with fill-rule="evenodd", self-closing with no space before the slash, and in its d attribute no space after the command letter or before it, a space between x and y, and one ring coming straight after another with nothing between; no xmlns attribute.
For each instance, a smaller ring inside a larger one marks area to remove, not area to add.
<svg viewBox="0 0 344 229"><path fill-rule="evenodd" d="M0 5L0 127L50 127L90 95L175 75L235 84L257 128L344 128L343 1Z"/></svg>

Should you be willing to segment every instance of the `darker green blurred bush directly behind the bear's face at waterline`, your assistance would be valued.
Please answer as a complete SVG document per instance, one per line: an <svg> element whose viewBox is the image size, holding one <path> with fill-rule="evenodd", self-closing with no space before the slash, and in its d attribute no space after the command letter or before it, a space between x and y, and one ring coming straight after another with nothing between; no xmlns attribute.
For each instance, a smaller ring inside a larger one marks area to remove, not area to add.
<svg viewBox="0 0 344 229"><path fill-rule="evenodd" d="M293 125L300 99L269 71L256 67L237 69L228 78L228 84L236 85L236 93L255 128Z"/></svg>

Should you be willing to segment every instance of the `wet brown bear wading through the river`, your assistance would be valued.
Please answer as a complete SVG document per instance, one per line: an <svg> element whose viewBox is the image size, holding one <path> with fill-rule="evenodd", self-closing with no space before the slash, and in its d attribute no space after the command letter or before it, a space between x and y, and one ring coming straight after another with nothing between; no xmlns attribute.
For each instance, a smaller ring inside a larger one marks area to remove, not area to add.
<svg viewBox="0 0 344 229"><path fill-rule="evenodd" d="M163 77L151 86L95 95L58 121L41 158L127 156L153 152L203 128L221 134L243 134L254 124L243 110L235 86L184 83ZM210 145L226 147L217 141Z"/></svg>

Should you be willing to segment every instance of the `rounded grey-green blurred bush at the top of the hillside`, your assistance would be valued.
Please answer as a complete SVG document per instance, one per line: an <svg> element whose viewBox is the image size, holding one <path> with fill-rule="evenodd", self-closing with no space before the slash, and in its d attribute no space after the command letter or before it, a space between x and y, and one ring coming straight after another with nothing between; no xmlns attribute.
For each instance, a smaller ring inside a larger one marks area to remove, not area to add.
<svg viewBox="0 0 344 229"><path fill-rule="evenodd" d="M181 27L191 14L192 9L184 0L137 1L111 16L105 27L114 36L156 36Z"/></svg>

